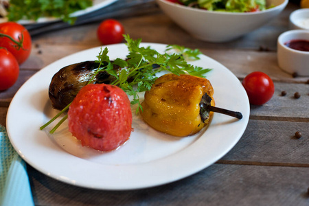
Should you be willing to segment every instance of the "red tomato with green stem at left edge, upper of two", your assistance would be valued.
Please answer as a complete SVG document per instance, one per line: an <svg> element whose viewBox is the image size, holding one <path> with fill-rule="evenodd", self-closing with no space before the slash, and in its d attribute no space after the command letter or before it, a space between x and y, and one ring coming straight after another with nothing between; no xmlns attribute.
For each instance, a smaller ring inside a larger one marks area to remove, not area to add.
<svg viewBox="0 0 309 206"><path fill-rule="evenodd" d="M14 43L8 36L20 43L20 45ZM30 55L32 47L31 36L25 27L19 23L0 23L0 47L8 49L8 51L15 56L20 65L25 62Z"/></svg>

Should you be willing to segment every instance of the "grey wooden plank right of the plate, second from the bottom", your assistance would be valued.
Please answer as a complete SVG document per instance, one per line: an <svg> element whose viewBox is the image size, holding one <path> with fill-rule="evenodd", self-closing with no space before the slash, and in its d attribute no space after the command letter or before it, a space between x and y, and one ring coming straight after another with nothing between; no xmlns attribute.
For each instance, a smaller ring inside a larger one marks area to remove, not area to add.
<svg viewBox="0 0 309 206"><path fill-rule="evenodd" d="M297 131L301 132L300 139L295 137ZM309 121L249 120L238 144L221 160L247 162L251 165L295 164L309 168Z"/></svg>

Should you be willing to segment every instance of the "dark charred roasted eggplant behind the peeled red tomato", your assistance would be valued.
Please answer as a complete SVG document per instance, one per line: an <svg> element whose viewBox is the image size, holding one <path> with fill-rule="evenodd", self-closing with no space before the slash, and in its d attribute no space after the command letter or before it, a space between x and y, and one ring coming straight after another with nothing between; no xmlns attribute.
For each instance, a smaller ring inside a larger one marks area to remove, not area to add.
<svg viewBox="0 0 309 206"><path fill-rule="evenodd" d="M104 67L106 65L101 65ZM60 69L52 78L49 84L49 99L52 101L53 108L62 110L70 104L76 97L78 91L86 86L95 74L99 63L94 61L80 62ZM119 67L115 66L115 70ZM93 82L96 84L110 84L115 78L106 71L100 71Z"/></svg>

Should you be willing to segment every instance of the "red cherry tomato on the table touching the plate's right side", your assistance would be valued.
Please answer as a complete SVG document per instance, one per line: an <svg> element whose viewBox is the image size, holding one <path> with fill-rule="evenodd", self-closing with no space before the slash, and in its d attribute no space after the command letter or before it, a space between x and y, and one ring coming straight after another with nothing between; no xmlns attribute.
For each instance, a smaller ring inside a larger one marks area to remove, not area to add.
<svg viewBox="0 0 309 206"><path fill-rule="evenodd" d="M271 100L275 92L273 80L266 73L254 71L242 81L250 104L262 105Z"/></svg>

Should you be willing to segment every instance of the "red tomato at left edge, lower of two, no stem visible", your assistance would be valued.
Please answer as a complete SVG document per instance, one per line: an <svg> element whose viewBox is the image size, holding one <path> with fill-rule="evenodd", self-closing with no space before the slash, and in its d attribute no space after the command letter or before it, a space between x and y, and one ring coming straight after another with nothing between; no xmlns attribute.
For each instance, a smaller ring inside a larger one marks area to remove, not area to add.
<svg viewBox="0 0 309 206"><path fill-rule="evenodd" d="M5 48L0 48L0 91L9 89L19 78L19 63Z"/></svg>

